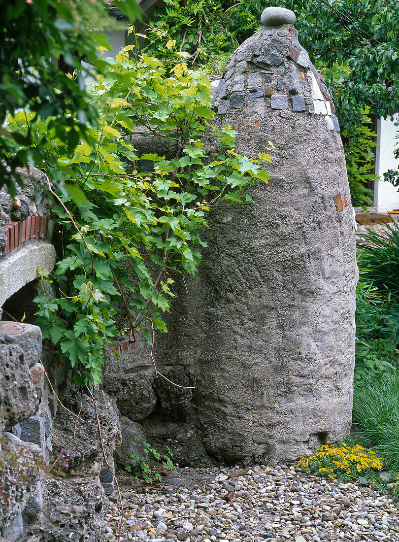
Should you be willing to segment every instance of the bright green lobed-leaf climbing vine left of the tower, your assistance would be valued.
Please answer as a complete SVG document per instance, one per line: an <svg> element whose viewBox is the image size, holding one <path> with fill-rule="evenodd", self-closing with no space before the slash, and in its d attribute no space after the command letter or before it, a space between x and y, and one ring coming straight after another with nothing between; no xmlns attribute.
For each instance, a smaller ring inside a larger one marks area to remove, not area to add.
<svg viewBox="0 0 399 542"><path fill-rule="evenodd" d="M95 144L82 141L71 156L52 119L31 125L28 110L9 118L13 129L33 133L35 166L67 187L57 192L49 182L60 234L56 297L35 301L43 337L69 359L79 385L99 382L104 347L115 336L129 333L134 342L139 330L151 343L154 330L167 331L173 282L196 272L209 210L252 202L246 187L269 179L261 169L267 154L239 156L234 131L211 124L209 82L178 51L160 61L134 50L108 60L92 82L99 119L88 131ZM138 132L155 138L162 153L139 156L131 142Z"/></svg>

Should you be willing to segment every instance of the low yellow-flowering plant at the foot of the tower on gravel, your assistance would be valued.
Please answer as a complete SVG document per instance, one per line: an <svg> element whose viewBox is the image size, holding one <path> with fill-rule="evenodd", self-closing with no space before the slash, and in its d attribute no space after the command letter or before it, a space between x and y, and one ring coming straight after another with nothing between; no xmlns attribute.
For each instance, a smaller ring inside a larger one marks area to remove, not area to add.
<svg viewBox="0 0 399 542"><path fill-rule="evenodd" d="M356 478L368 483L375 478L376 471L382 470L381 459L383 458L378 458L374 451L368 448L359 444L349 446L343 442L340 446L324 444L315 455L303 457L298 464L305 473L337 478L344 482Z"/></svg>

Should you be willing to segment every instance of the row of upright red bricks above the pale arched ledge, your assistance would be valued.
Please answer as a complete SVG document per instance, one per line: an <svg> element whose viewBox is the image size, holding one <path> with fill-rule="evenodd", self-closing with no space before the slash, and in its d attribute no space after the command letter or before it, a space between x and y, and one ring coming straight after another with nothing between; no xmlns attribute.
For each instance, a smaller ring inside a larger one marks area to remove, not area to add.
<svg viewBox="0 0 399 542"><path fill-rule="evenodd" d="M11 222L4 226L5 254L29 239L51 239L54 222L45 216L28 216L22 222Z"/></svg>

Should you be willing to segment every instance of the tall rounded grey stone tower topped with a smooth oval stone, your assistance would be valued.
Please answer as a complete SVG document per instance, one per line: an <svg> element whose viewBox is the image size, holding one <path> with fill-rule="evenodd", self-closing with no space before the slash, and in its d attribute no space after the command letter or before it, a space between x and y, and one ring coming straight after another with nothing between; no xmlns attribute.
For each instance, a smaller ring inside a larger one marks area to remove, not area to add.
<svg viewBox="0 0 399 542"><path fill-rule="evenodd" d="M155 347L164 373L196 388L158 389L171 430L186 424L208 454L244 463L294 460L349 433L358 278L333 101L294 13L267 8L261 22L213 101L237 152L258 158L272 141L271 182L251 189L257 203L212 211L200 271Z"/></svg>

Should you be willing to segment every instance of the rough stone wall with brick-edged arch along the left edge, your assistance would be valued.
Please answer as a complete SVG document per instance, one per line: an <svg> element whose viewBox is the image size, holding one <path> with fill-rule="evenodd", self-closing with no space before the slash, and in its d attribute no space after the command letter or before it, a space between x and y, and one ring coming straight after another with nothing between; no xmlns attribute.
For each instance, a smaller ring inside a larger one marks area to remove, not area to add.
<svg viewBox="0 0 399 542"><path fill-rule="evenodd" d="M0 539L99 542L113 478L92 398L70 384L65 360L32 325L35 296L53 295L36 279L36 268L51 272L56 254L46 179L35 169L22 177L16 198L0 192ZM93 395L113 468L118 411L103 390ZM66 478L55 475L60 469Z"/></svg>

